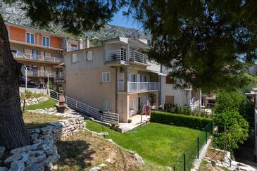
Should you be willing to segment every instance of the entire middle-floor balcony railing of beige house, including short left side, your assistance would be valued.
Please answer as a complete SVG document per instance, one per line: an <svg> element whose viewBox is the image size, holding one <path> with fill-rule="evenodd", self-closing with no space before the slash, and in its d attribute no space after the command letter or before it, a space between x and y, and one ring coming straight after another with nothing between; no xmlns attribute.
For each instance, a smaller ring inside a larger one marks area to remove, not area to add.
<svg viewBox="0 0 257 171"><path fill-rule="evenodd" d="M124 82L118 82L118 91L125 91ZM128 92L160 90L160 82L128 82Z"/></svg>

